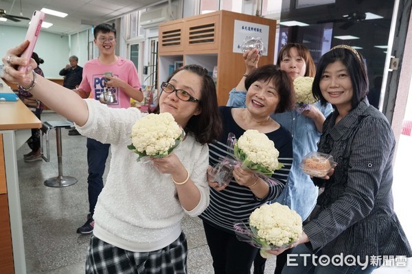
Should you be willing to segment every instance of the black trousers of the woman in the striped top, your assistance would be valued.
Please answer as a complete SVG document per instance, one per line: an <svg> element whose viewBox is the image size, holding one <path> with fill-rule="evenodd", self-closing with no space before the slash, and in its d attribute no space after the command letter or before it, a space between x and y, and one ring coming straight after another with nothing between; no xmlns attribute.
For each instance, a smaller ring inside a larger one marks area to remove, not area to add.
<svg viewBox="0 0 412 274"><path fill-rule="evenodd" d="M215 274L249 274L259 249L203 221Z"/></svg>

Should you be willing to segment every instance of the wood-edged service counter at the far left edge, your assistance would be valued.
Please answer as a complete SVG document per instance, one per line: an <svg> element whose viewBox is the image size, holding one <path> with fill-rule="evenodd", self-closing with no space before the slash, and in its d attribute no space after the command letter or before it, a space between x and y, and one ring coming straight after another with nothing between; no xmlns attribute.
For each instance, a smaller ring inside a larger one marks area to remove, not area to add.
<svg viewBox="0 0 412 274"><path fill-rule="evenodd" d="M13 92L0 83L0 93ZM26 273L16 150L41 126L21 100L0 102L0 273Z"/></svg>

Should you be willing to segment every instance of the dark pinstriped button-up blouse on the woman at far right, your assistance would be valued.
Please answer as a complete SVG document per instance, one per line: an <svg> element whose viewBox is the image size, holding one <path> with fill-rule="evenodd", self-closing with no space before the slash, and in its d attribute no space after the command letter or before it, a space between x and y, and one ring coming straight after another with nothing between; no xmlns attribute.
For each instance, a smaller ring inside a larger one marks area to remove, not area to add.
<svg viewBox="0 0 412 274"><path fill-rule="evenodd" d="M335 124L325 120L318 151L338 163L318 198L317 216L304 226L315 252L325 255L412 256L407 236L393 211L392 161L395 137L385 115L366 99Z"/></svg>

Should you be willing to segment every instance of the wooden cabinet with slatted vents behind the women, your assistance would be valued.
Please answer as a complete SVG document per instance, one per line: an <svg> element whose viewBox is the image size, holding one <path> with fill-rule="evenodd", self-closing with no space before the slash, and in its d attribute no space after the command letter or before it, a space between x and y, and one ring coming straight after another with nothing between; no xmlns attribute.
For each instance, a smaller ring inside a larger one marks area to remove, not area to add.
<svg viewBox="0 0 412 274"><path fill-rule="evenodd" d="M220 10L159 25L159 82L180 62L201 65L208 71L216 66L218 103L225 105L229 91L245 71L242 54L233 52L236 20L268 26L267 56L261 56L259 65L273 64L276 21Z"/></svg>

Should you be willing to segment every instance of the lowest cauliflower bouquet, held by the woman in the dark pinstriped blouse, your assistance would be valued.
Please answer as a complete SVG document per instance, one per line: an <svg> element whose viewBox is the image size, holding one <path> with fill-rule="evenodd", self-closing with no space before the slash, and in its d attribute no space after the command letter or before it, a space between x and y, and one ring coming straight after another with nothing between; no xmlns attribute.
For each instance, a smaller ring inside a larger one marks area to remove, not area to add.
<svg viewBox="0 0 412 274"><path fill-rule="evenodd" d="M302 220L288 206L273 203L255 209L249 217L249 226L237 222L233 228L238 240L260 248L260 255L268 258L268 250L288 247L299 240Z"/></svg>

